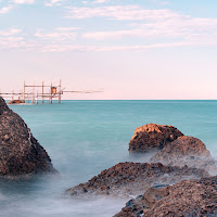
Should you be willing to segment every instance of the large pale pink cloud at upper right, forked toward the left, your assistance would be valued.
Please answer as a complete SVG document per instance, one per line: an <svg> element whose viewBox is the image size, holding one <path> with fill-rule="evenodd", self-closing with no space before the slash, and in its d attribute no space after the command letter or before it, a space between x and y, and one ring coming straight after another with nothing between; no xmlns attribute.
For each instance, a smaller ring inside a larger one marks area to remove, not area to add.
<svg viewBox="0 0 217 217"><path fill-rule="evenodd" d="M103 11L102 9L105 9ZM118 9L118 10L117 10ZM77 16L76 10L73 10L73 16ZM71 11L72 12L72 11ZM137 14L137 15L136 15ZM119 21L131 20L122 30L107 31L88 31L82 35L86 39L107 40L120 38L157 38L157 39L182 39L187 41L204 40L212 38L213 42L217 40L217 18L193 18L189 15L182 15L170 10L142 10L139 7L104 7L94 8L80 14L77 18L102 16Z"/></svg>

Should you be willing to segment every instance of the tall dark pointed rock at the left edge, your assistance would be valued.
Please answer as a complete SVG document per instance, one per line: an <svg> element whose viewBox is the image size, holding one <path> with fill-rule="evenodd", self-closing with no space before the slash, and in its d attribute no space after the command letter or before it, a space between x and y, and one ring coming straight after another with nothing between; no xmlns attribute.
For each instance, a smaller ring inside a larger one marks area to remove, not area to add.
<svg viewBox="0 0 217 217"><path fill-rule="evenodd" d="M24 120L0 97L0 178L25 179L58 173Z"/></svg>

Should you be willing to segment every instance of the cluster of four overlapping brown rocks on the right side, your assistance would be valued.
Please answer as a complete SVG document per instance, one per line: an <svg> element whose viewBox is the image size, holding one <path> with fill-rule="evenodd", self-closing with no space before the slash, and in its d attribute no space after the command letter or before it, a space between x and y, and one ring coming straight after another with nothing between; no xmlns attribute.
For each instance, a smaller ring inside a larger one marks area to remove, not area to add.
<svg viewBox="0 0 217 217"><path fill-rule="evenodd" d="M148 124L130 140L129 154L138 153L155 155L148 163L119 163L65 195L135 197L114 217L217 215L216 162L201 140L173 126Z"/></svg>

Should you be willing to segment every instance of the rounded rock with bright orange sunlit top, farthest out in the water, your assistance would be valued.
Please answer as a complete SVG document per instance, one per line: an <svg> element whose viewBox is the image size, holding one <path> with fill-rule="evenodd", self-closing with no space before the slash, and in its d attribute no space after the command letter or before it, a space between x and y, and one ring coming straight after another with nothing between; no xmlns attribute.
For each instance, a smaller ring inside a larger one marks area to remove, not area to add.
<svg viewBox="0 0 217 217"><path fill-rule="evenodd" d="M181 136L183 133L173 126L148 124L135 130L129 142L129 152L149 153L158 151Z"/></svg>

